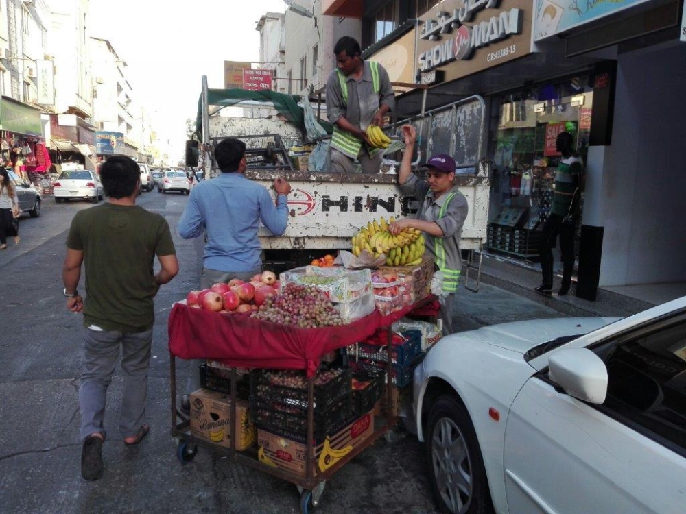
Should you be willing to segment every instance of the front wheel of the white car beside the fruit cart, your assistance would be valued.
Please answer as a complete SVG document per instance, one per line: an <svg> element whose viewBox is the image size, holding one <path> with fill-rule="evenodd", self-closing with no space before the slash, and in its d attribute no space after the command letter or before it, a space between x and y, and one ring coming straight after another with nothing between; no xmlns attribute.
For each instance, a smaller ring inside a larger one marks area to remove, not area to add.
<svg viewBox="0 0 686 514"><path fill-rule="evenodd" d="M493 513L476 432L455 397L441 396L431 407L426 445L431 489L440 512Z"/></svg>

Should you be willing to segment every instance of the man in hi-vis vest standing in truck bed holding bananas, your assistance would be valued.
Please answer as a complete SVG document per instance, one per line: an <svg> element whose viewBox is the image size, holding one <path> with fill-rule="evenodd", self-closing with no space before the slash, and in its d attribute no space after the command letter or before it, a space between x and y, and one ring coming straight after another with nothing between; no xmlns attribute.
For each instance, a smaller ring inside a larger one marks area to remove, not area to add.
<svg viewBox="0 0 686 514"><path fill-rule="evenodd" d="M388 73L377 62L363 60L359 42L344 36L333 48L336 69L327 79L327 117L333 123L331 171L379 173L383 145L383 117L395 106Z"/></svg>

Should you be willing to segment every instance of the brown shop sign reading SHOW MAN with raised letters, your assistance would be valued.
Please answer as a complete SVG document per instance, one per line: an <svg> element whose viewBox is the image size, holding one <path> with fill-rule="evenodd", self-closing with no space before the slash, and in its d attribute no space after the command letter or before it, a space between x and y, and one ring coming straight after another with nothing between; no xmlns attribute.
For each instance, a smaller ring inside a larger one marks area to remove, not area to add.
<svg viewBox="0 0 686 514"><path fill-rule="evenodd" d="M417 67L451 81L531 52L531 2L445 0L421 17Z"/></svg>

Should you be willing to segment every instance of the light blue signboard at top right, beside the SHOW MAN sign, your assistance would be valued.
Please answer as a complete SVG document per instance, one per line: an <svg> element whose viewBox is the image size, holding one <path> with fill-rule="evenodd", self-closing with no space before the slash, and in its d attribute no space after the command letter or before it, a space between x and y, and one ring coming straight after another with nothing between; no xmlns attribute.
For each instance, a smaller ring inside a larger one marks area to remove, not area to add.
<svg viewBox="0 0 686 514"><path fill-rule="evenodd" d="M650 0L534 0L534 40L549 38L647 1Z"/></svg>

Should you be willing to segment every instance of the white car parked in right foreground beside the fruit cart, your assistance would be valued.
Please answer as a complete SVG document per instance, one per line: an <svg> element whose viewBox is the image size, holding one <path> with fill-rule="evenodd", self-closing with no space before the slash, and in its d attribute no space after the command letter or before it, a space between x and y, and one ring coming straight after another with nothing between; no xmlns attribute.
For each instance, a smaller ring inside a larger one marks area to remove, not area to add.
<svg viewBox="0 0 686 514"><path fill-rule="evenodd" d="M686 297L452 334L413 387L443 513L686 512Z"/></svg>

